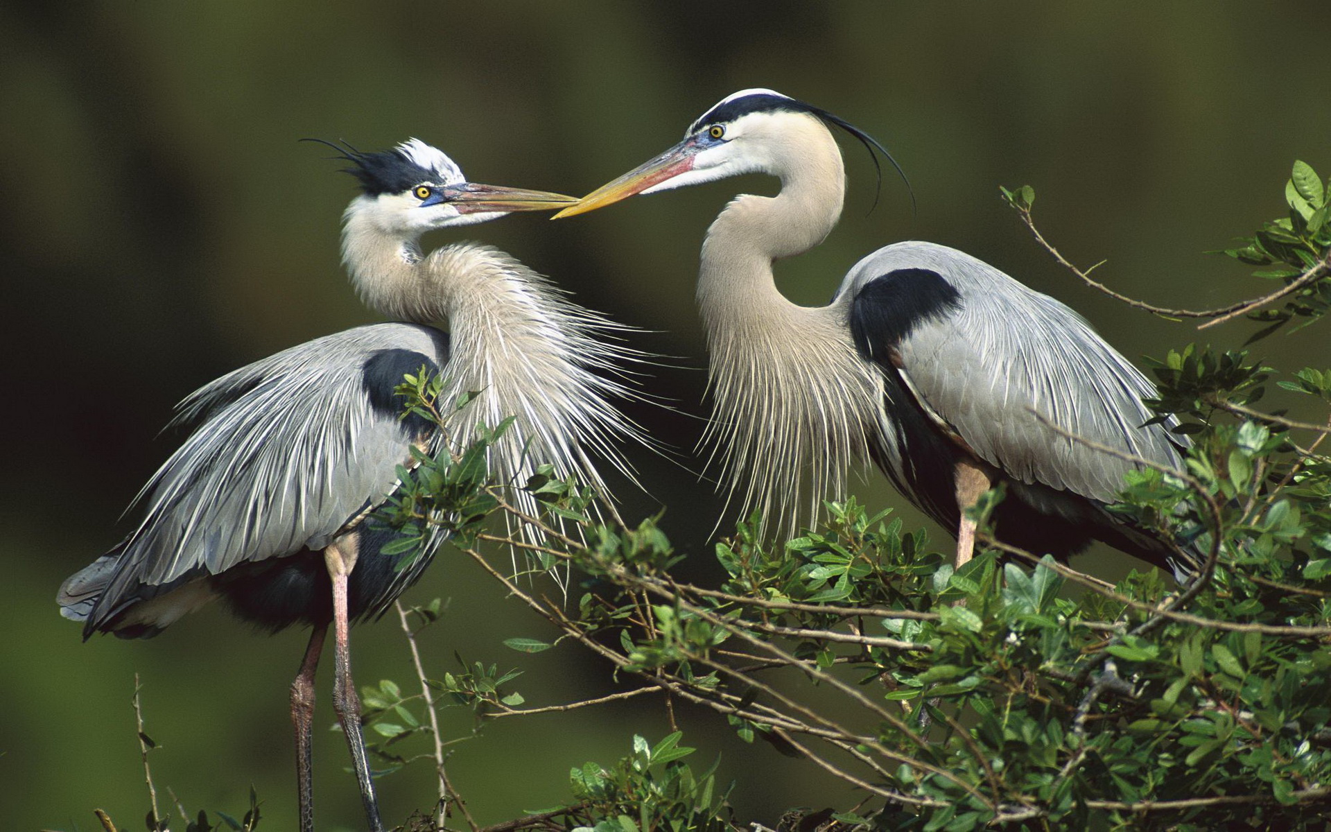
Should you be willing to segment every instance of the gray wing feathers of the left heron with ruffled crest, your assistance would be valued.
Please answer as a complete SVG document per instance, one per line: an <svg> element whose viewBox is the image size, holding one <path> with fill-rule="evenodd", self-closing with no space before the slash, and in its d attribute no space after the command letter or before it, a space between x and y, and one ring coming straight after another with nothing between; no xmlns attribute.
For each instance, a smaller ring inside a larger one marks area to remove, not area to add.
<svg viewBox="0 0 1331 832"><path fill-rule="evenodd" d="M108 590L218 574L246 560L322 548L397 485L413 437L375 411L362 366L379 349L415 349L441 365L445 335L365 326L236 370L186 398L177 421L202 423L137 498L144 520Z"/></svg>

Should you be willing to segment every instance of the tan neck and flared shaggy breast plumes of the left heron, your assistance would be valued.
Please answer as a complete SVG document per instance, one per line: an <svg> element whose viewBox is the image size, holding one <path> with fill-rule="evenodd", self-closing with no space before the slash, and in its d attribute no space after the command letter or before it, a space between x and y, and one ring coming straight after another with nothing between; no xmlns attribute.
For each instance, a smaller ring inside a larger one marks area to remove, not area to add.
<svg viewBox="0 0 1331 832"><path fill-rule="evenodd" d="M454 446L469 445L478 422L494 427L516 417L490 450L499 482L524 485L536 465L550 462L604 493L588 450L632 478L616 443L642 437L607 397L632 395L614 375L620 362L640 355L598 338L623 327L568 302L498 249L454 244L422 256L414 238L359 220L349 212L342 257L362 300L393 318L447 321L441 405L480 393L450 426ZM518 491L519 505L535 510L530 498Z"/></svg>

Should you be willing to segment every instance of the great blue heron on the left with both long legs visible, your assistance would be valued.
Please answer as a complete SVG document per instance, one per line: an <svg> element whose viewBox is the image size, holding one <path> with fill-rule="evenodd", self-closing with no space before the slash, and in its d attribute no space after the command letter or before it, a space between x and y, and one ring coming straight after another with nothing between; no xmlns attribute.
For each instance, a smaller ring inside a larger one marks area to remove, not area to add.
<svg viewBox="0 0 1331 832"><path fill-rule="evenodd" d="M142 519L118 546L60 587L61 612L84 638L146 638L214 598L272 631L313 627L291 684L301 828L314 828L310 723L314 670L329 622L335 636L333 704L346 732L371 829L383 828L351 682L349 622L383 612L414 583L441 542L406 564L381 555L393 532L363 523L398 485L413 446L434 454L443 431L401 418L403 375L441 374L449 405L480 391L459 417L516 421L491 449L499 481L526 482L551 462L600 485L584 450L623 467L619 438L635 426L607 395L628 350L598 334L620 329L566 301L496 249L455 244L422 254L429 230L572 202L560 194L467 182L441 150L415 138L383 153L347 148L361 184L343 214L342 260L361 297L399 318L309 341L190 394L174 425L193 433L148 481ZM447 321L449 331L433 322ZM476 407L480 410L478 411ZM454 445L465 430L450 430ZM531 495L519 494L519 498Z"/></svg>

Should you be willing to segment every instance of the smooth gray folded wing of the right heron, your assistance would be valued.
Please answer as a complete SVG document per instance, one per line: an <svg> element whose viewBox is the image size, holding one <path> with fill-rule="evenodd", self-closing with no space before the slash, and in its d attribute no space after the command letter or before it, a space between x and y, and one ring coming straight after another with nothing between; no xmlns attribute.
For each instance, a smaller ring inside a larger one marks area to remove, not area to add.
<svg viewBox="0 0 1331 832"><path fill-rule="evenodd" d="M1067 306L946 246L906 242L861 261L849 297L902 268L938 272L961 308L930 319L898 345L901 371L937 418L986 462L1026 483L1111 502L1139 466L1075 442L1037 418L1115 450L1177 465L1169 425L1142 398L1155 387ZM844 300L844 298L843 298Z"/></svg>

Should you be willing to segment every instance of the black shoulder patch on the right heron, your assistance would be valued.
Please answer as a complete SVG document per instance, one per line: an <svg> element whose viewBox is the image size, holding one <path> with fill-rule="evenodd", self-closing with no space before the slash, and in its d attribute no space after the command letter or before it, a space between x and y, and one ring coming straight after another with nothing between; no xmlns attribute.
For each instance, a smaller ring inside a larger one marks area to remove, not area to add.
<svg viewBox="0 0 1331 832"><path fill-rule="evenodd" d="M932 269L896 269L860 289L851 304L851 333L860 354L878 363L917 326L961 309L961 293Z"/></svg>

